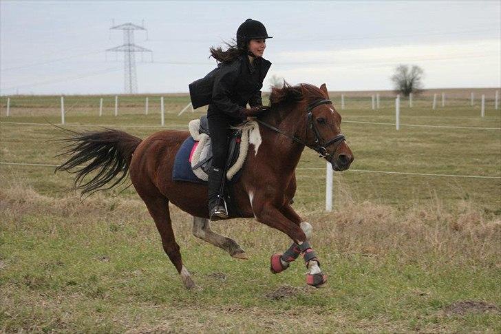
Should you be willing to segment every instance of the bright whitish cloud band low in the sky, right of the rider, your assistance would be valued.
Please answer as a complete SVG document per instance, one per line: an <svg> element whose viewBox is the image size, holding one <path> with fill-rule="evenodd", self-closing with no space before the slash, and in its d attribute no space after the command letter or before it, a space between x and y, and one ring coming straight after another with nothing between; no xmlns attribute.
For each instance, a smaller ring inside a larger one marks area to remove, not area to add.
<svg viewBox="0 0 501 334"><path fill-rule="evenodd" d="M499 86L501 42L420 44L277 52L270 76L290 83L328 83L330 90L391 89L390 76L400 63L425 70L427 87Z"/></svg>

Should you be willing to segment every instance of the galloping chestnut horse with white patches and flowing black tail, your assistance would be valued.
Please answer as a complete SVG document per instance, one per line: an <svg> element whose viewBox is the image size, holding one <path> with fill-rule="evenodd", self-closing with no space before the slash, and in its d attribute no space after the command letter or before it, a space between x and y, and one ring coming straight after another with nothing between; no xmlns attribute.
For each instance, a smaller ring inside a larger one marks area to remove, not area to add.
<svg viewBox="0 0 501 334"><path fill-rule="evenodd" d="M328 100L325 84L319 88L284 83L284 87L273 88L270 103L270 111L257 118L259 127L251 132L242 176L233 185L233 200L243 218L255 217L292 239L287 251L272 255L273 273L287 269L302 254L308 267L307 283L321 286L326 276L308 243L312 227L290 206L296 191L295 169L305 147L314 149L337 171L350 167L353 154L341 134L341 115ZM114 187L129 171L132 184L155 221L165 253L186 288L193 289L195 283L175 242L169 202L194 217L193 234L197 238L228 251L234 258L246 259L247 255L237 242L211 231L206 185L172 180L175 154L188 136L184 131L162 131L141 140L113 129L74 133L65 139L70 144L64 155L70 158L56 170L76 173L74 188L83 193L102 189L118 176L106 189ZM78 167L83 163L87 165ZM84 182L92 171L97 173Z"/></svg>

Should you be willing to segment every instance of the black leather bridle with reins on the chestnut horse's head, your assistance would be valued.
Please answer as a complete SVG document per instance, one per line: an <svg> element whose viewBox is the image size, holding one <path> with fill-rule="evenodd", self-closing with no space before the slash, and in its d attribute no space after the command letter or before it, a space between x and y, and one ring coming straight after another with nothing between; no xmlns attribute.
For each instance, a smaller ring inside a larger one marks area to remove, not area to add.
<svg viewBox="0 0 501 334"><path fill-rule="evenodd" d="M334 158L334 156L331 156L331 154L329 154L329 152L327 152L327 147L329 147L330 145L335 144L335 143L341 143L341 142L343 142L343 140L346 140L346 138L345 138L344 134L338 134L337 136L335 136L331 140L328 140L327 142L325 140L323 140L322 136L320 135L319 130L315 126L312 111L313 111L313 109L315 109L315 107L318 107L319 105L325 105L325 104L332 104L332 101L330 101L326 98L323 98L321 100L315 101L314 103L311 103L306 108L306 112L308 112L308 114L306 116L308 119L308 124L306 125L306 138L308 138L308 129L312 129L313 135L315 137L313 140L313 145L308 145L308 143L301 140L300 138L297 138L296 136L290 136L290 134L286 134L281 129L274 127L273 125L270 125L270 124L265 123L263 121L260 121L259 119L256 119L256 121L259 124L262 124L265 127L268 127L268 129L272 129L273 131L278 132L279 134L282 134L282 135L286 136L287 138L290 138L290 139L294 140L295 142L300 143L301 145L304 145L306 147L309 147L310 149L315 150L315 152L317 152L319 154L319 158L326 158L326 160L328 160L330 163L332 163L332 158Z"/></svg>

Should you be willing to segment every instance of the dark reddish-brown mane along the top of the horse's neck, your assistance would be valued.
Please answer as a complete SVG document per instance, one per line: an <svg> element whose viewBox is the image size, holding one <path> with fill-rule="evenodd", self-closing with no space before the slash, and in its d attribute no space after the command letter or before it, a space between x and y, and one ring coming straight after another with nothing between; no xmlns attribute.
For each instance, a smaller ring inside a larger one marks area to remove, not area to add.
<svg viewBox="0 0 501 334"><path fill-rule="evenodd" d="M299 103L305 98L309 104L319 100L319 98L325 98L325 96L319 87L315 87L309 83L300 83L299 85L292 86L284 81L283 87L272 87L270 104L272 109L275 109L279 105Z"/></svg>

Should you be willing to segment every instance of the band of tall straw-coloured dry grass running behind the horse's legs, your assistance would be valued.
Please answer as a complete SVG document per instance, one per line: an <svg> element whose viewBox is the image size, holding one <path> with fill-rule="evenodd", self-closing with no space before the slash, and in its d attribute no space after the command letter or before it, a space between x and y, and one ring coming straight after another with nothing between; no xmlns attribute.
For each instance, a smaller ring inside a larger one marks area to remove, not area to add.
<svg viewBox="0 0 501 334"><path fill-rule="evenodd" d="M457 261L493 264L501 268L501 218L484 213L470 201L458 202L456 209L445 209L440 200L434 198L429 205L398 211L387 205L371 202L344 200L343 209L334 213L312 213L306 208L297 208L304 219L314 227L313 242L317 247L329 247L339 253L361 253L367 256L385 256L398 249L405 260L420 258L423 253L445 255ZM0 209L3 229L19 229L22 217L51 215L72 217L65 223L69 228L83 226L92 228L108 220L117 225L134 221L151 220L140 199L110 198L103 194L81 200L78 196L52 198L43 196L22 182L14 181L0 189ZM191 238L191 216L172 207L171 216L177 238ZM153 223L151 224L154 229ZM283 238L259 238L270 231L255 220L237 219L228 223L216 223L216 231L231 236L242 236L251 232L247 240L255 248L278 247ZM149 234L149 233L147 233ZM278 233L277 234L281 234ZM256 238L258 236L258 238Z"/></svg>

